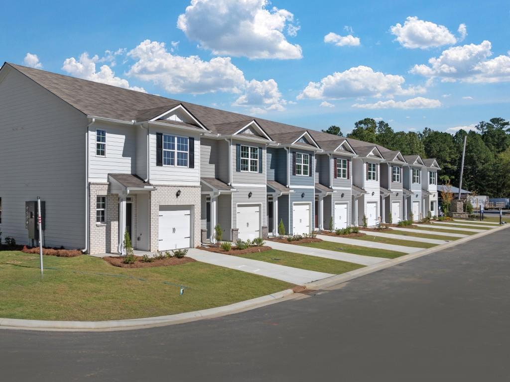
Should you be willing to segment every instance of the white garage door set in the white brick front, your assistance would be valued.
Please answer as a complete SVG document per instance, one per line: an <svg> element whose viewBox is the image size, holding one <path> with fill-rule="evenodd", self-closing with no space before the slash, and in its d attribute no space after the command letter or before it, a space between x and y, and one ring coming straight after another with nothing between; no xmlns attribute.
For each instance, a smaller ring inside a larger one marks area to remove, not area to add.
<svg viewBox="0 0 510 382"><path fill-rule="evenodd" d="M190 247L190 209L160 210L159 250L168 251Z"/></svg>

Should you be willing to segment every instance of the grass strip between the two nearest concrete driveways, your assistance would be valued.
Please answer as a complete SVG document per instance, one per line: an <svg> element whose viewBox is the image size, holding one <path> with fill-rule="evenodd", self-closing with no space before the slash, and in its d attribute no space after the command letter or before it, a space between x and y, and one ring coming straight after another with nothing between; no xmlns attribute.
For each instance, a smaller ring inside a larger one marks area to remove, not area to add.
<svg viewBox="0 0 510 382"><path fill-rule="evenodd" d="M268 263L287 265L294 268L315 270L317 272L326 272L331 274L341 274L362 268L364 265L349 263L347 261L324 259L317 256L301 255L287 251L270 250L261 253L248 253L237 255L246 259L267 261Z"/></svg>

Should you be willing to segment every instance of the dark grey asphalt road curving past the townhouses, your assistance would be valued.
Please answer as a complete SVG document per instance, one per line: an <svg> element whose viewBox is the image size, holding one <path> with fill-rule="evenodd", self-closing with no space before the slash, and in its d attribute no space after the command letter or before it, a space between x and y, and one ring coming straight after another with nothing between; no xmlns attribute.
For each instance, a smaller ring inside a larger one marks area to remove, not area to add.
<svg viewBox="0 0 510 382"><path fill-rule="evenodd" d="M508 380L509 234L218 319L110 333L0 330L0 380Z"/></svg>

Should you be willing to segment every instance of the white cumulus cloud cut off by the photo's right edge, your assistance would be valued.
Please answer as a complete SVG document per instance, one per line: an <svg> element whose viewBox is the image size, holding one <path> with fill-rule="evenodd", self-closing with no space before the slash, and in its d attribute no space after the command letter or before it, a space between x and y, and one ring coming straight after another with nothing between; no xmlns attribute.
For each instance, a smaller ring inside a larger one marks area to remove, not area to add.
<svg viewBox="0 0 510 382"><path fill-rule="evenodd" d="M415 65L411 73L425 77L440 77L443 82L461 80L468 83L495 83L510 81L510 57L492 56L490 41L480 44L454 46L432 57L428 65Z"/></svg>

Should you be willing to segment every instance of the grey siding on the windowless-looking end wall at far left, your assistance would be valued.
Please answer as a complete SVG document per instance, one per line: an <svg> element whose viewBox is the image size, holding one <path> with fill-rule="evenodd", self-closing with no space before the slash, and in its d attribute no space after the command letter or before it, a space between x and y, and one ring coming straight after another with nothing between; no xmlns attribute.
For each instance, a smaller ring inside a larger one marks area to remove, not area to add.
<svg viewBox="0 0 510 382"><path fill-rule="evenodd" d="M23 74L0 78L2 237L29 244L25 201L46 202L44 245L85 245L85 131L82 113Z"/></svg>

